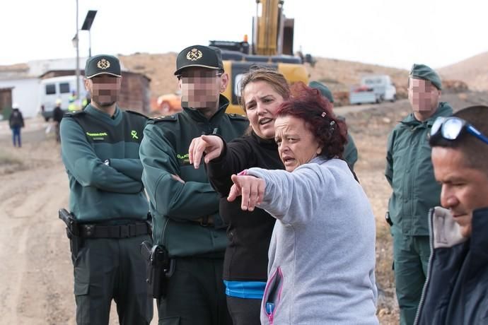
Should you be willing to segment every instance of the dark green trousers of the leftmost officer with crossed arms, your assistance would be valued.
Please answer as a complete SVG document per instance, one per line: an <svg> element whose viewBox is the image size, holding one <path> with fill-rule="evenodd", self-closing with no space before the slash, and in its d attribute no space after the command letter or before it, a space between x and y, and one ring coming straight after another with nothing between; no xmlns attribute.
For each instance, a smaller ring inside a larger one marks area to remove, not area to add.
<svg viewBox="0 0 488 325"><path fill-rule="evenodd" d="M146 325L153 317L140 244L149 235L85 239L74 261L76 324L107 325L112 298L121 325Z"/></svg>

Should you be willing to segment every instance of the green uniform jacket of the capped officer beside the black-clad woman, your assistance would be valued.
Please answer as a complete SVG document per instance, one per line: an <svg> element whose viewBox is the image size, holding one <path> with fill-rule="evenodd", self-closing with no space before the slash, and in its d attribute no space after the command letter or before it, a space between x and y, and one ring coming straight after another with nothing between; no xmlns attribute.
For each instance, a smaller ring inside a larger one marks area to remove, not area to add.
<svg viewBox="0 0 488 325"><path fill-rule="evenodd" d="M170 117L150 120L144 129L140 148L142 181L149 194L154 242L163 244L170 256L223 256L227 246L219 215L219 194L211 187L204 164L195 170L188 160L193 138L219 134L228 142L242 136L248 128L245 117L225 113L225 97L221 96L219 105L211 119L185 107ZM171 175L178 175L185 184ZM207 215L213 216L215 225L203 227L188 221Z"/></svg>

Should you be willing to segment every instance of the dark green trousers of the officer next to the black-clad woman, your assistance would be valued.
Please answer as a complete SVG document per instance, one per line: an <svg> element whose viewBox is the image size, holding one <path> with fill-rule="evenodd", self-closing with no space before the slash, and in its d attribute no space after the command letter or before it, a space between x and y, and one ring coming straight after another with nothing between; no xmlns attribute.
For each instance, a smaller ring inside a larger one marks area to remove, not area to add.
<svg viewBox="0 0 488 325"><path fill-rule="evenodd" d="M158 325L232 325L222 258L177 257L168 295L158 301Z"/></svg>

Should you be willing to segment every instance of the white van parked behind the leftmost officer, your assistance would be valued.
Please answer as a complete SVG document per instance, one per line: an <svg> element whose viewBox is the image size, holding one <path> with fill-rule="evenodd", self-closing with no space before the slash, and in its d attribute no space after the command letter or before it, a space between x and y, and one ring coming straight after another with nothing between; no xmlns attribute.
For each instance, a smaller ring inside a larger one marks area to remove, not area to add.
<svg viewBox="0 0 488 325"><path fill-rule="evenodd" d="M83 98L86 98L86 90L83 76L79 77L80 95L77 105L81 105ZM42 116L48 121L52 118L52 111L56 107L56 101L61 100L61 108L68 110L71 93L76 93L76 76L61 76L46 78L40 81L40 107Z"/></svg>

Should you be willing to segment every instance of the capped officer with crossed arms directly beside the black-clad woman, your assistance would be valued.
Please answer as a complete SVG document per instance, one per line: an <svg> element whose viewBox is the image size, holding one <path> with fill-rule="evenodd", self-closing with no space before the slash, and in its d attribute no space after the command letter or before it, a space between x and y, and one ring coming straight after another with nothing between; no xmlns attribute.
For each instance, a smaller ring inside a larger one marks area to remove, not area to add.
<svg viewBox="0 0 488 325"><path fill-rule="evenodd" d="M204 166L190 164L188 148L202 134L231 141L243 135L248 121L225 112L229 102L221 93L228 74L219 49L183 49L175 75L183 111L148 122L140 148L154 244L164 245L175 265L166 295L158 299L159 324L232 324L222 280L227 237L219 195Z"/></svg>

